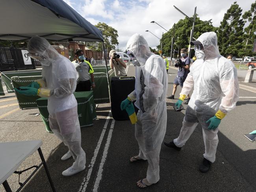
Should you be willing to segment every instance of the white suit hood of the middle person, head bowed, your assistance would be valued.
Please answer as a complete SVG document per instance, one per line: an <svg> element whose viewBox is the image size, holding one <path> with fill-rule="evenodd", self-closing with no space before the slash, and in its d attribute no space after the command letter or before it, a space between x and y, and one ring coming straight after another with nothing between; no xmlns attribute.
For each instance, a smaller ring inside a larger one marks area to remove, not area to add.
<svg viewBox="0 0 256 192"><path fill-rule="evenodd" d="M126 50L133 52L141 66L144 66L147 59L152 55L146 39L137 33L128 40Z"/></svg>

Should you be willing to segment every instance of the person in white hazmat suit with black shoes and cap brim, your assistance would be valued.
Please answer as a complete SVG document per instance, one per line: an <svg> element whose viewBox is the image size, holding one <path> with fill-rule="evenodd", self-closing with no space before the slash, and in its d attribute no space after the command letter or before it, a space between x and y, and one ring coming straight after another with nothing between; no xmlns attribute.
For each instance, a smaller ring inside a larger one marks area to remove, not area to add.
<svg viewBox="0 0 256 192"><path fill-rule="evenodd" d="M190 68L180 98L175 105L180 107L193 88L194 91L186 109L180 135L164 144L180 150L200 122L205 152L199 170L205 173L210 170L211 163L215 161L219 142L217 133L221 119L236 107L239 99L239 84L234 64L219 53L216 33L203 33L190 44L195 45L197 60Z"/></svg>

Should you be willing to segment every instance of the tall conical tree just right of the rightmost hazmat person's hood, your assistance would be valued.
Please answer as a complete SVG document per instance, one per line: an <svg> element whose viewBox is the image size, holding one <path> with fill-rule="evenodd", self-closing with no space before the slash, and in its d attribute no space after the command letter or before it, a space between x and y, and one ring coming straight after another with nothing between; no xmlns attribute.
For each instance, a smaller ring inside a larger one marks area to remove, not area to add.
<svg viewBox="0 0 256 192"><path fill-rule="evenodd" d="M234 2L224 15L218 30L218 44L221 55L241 57L243 48L243 26L241 18L242 9Z"/></svg>

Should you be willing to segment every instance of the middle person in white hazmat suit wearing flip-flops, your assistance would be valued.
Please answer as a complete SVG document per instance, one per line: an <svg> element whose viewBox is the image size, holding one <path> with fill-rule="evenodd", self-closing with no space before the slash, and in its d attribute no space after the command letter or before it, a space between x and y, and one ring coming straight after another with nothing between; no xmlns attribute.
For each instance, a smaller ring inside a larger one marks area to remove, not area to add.
<svg viewBox="0 0 256 192"><path fill-rule="evenodd" d="M163 59L150 52L142 35L134 34L127 42L127 50L132 52L136 65L135 90L121 103L126 109L136 100L139 109L135 124L135 138L139 144L139 155L130 162L148 161L147 177L137 182L140 188L152 186L159 181L159 155L165 136L167 111L167 73Z"/></svg>

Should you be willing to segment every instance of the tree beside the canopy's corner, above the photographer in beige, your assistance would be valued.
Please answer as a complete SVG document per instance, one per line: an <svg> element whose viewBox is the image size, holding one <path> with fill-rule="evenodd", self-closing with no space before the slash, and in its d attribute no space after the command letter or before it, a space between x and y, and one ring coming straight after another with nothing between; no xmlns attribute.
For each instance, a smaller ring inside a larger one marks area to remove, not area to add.
<svg viewBox="0 0 256 192"><path fill-rule="evenodd" d="M115 46L119 44L119 42L117 41L117 37L118 37L117 30L115 30L111 26L108 26L106 23L101 23L101 22L96 24L95 27L102 31L104 44L107 47L108 52L112 49L115 49ZM100 47L100 50L102 50L101 46L99 47Z"/></svg>

